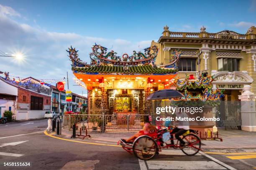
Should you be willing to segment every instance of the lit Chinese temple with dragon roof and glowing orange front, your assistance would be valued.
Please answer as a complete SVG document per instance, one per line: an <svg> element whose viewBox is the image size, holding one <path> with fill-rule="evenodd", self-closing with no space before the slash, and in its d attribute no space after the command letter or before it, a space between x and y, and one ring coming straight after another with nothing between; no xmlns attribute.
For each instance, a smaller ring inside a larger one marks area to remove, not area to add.
<svg viewBox="0 0 256 170"><path fill-rule="evenodd" d="M167 65L156 65L158 47L118 56L101 45L93 45L90 64L80 60L78 50L67 52L72 70L88 90L89 114L147 114L151 102L144 99L156 90L168 88L177 75L181 52L175 50Z"/></svg>

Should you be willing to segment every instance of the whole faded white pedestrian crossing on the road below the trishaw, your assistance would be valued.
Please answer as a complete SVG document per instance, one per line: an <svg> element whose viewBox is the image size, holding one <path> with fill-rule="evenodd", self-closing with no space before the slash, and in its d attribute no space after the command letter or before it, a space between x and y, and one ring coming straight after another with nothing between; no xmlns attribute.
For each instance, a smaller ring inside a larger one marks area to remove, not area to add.
<svg viewBox="0 0 256 170"><path fill-rule="evenodd" d="M181 150L162 150L151 160L139 160L139 164L141 170L236 170L209 157L204 153L187 156Z"/></svg>

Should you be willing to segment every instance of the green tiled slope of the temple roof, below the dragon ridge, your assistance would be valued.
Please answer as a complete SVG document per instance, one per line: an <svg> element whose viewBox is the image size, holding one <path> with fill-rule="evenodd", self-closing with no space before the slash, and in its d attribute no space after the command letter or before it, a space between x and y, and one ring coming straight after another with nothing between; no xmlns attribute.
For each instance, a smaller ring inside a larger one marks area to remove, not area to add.
<svg viewBox="0 0 256 170"><path fill-rule="evenodd" d="M125 73L125 74L170 74L175 73L178 69L164 69L161 67L152 67L151 65L139 65L139 66L90 66L90 67L72 67L74 72L83 73Z"/></svg>

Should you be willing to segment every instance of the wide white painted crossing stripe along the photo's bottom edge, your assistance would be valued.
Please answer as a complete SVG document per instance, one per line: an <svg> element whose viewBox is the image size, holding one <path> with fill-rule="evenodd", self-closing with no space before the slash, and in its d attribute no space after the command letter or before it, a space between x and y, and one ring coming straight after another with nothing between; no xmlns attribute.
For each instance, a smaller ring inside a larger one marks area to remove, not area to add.
<svg viewBox="0 0 256 170"><path fill-rule="evenodd" d="M214 161L177 161L177 160L148 160L149 170L226 170Z"/></svg>

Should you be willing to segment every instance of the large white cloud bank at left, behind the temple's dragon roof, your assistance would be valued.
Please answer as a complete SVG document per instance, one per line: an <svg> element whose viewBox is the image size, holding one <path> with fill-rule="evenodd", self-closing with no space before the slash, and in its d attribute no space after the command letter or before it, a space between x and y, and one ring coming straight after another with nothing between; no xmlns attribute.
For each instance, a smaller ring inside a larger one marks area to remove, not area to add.
<svg viewBox="0 0 256 170"><path fill-rule="evenodd" d="M66 77L68 72L69 88L76 93L81 93L82 89L73 86L74 75L66 52L70 45L79 50L81 60L90 63L89 53L95 42L118 52L118 55L122 55L123 52L132 54L133 50L143 50L151 43L151 40L131 42L123 39L82 36L74 32L49 32L40 26L33 27L13 20L12 16L21 15L11 7L1 5L0 9L0 50L10 54L23 51L26 56L24 62L9 57L1 58L0 70L9 71L10 75L24 78L31 76L37 79L61 79Z"/></svg>

